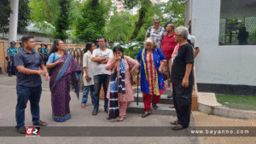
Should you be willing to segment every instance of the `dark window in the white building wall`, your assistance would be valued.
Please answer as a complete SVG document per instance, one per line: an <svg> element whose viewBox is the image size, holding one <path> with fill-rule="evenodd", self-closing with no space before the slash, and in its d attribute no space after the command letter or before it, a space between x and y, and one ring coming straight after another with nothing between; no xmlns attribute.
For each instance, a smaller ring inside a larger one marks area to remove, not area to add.
<svg viewBox="0 0 256 144"><path fill-rule="evenodd" d="M255 0L221 0L219 45L256 45Z"/></svg>

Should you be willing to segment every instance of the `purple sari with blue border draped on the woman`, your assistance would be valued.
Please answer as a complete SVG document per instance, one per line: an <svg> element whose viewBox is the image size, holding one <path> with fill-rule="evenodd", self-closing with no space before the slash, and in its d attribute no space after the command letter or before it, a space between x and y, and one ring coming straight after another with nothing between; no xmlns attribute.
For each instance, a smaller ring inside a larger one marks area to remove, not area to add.
<svg viewBox="0 0 256 144"><path fill-rule="evenodd" d="M73 55L65 52L62 55L62 60L64 62L53 68L49 79L52 117L57 122L64 122L71 118L69 108L70 86L73 86L79 99L79 78L82 72L79 63L74 60Z"/></svg>

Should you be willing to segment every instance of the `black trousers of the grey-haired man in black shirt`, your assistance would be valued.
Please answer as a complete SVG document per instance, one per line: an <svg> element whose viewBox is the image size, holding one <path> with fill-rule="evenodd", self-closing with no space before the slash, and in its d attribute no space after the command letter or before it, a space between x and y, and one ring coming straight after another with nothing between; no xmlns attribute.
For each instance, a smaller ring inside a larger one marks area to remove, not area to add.
<svg viewBox="0 0 256 144"><path fill-rule="evenodd" d="M184 88L179 84L172 84L172 97L177 113L178 124L189 127L193 85Z"/></svg>

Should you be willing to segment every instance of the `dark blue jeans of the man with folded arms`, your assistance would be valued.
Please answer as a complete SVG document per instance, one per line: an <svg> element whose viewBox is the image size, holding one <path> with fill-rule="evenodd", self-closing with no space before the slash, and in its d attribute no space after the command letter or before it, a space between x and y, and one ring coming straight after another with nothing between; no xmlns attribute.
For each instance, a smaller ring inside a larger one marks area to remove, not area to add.
<svg viewBox="0 0 256 144"><path fill-rule="evenodd" d="M94 101L94 108L98 109L99 108L99 100L100 100L100 91L102 88L103 84L103 89L104 89L104 107L108 107L108 99L107 99L107 92L108 92L108 84L109 84L109 79L110 75L108 74L99 74L93 77L94 78L94 86L95 86L95 94L93 95L93 101Z"/></svg>

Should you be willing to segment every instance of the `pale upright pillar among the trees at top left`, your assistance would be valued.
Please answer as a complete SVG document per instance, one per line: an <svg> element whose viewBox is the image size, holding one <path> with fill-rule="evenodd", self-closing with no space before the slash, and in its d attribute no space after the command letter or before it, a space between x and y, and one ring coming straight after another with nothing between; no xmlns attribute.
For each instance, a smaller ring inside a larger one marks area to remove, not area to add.
<svg viewBox="0 0 256 144"><path fill-rule="evenodd" d="M10 0L10 7L12 13L9 16L9 43L17 40L19 0Z"/></svg>

